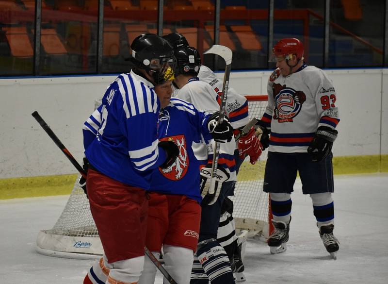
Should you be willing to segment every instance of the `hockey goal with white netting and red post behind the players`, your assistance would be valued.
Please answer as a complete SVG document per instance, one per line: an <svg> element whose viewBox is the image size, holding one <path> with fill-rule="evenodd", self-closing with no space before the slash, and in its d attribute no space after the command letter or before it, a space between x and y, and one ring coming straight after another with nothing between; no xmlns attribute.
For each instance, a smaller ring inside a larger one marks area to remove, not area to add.
<svg viewBox="0 0 388 284"><path fill-rule="evenodd" d="M267 96L246 97L250 118L261 117ZM267 151L262 153L255 165L249 163L249 157L245 159L238 174L235 196L232 197L236 229L247 232L247 236L268 236L269 198L263 192L266 159ZM78 186L78 179L54 227L40 231L36 244L38 252L57 257L94 259L103 253L89 201Z"/></svg>

